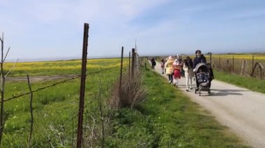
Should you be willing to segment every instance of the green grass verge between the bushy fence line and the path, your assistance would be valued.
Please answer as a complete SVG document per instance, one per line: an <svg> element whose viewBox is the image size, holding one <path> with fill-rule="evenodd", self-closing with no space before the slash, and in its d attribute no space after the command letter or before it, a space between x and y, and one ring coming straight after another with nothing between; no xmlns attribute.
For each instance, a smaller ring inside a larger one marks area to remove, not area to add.
<svg viewBox="0 0 265 148"><path fill-rule="evenodd" d="M248 147L159 74L143 75L148 98L115 114L108 147Z"/></svg>

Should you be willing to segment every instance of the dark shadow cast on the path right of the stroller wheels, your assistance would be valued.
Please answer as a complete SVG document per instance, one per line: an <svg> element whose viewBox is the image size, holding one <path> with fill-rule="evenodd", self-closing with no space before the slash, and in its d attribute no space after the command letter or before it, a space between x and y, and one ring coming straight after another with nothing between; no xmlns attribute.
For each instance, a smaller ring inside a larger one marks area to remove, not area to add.
<svg viewBox="0 0 265 148"><path fill-rule="evenodd" d="M211 89L211 96L228 96L228 95L243 95L240 92L248 92L249 90L218 90Z"/></svg>

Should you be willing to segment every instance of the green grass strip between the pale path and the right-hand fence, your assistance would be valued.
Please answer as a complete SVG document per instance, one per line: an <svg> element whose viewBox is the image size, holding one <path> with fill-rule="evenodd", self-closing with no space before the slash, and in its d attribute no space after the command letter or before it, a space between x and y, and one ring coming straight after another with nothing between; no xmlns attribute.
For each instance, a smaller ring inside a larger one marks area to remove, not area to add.
<svg viewBox="0 0 265 148"><path fill-rule="evenodd" d="M239 74L230 74L227 72L214 71L215 79L224 81L242 88L248 88L256 92L265 93L265 80L259 80L252 77L240 76Z"/></svg>

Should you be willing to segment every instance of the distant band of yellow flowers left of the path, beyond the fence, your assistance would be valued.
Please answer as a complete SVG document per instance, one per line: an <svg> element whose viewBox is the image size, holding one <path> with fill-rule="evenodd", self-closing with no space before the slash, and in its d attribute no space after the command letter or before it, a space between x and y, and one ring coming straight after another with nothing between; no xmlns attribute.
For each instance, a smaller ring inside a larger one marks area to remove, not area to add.
<svg viewBox="0 0 265 148"><path fill-rule="evenodd" d="M89 59L87 60L87 69L106 69L117 67L121 64L120 58L107 59ZM13 67L14 63L5 63L4 69L8 71ZM11 74L75 74L81 69L81 60L66 60L66 61L47 61L47 62L27 62L17 63ZM128 60L123 61L123 65L128 65Z"/></svg>

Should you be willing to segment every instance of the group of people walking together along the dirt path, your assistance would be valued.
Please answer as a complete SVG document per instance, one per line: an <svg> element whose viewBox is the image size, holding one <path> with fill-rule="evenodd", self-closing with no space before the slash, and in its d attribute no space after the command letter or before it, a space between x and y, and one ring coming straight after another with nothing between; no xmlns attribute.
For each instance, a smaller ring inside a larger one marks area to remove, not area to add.
<svg viewBox="0 0 265 148"><path fill-rule="evenodd" d="M197 50L195 51L195 54L196 54L196 57L194 58L193 61L189 56L187 56L183 60L181 55L178 55L176 57L169 56L165 60L164 59L161 60L160 64L161 64L162 74L164 73L167 74L169 84L172 84L175 87L178 87L179 79L185 76L186 91L188 92L189 89L192 90L192 79L195 79L196 85L197 85L196 89L198 90L200 82L198 81L196 74L199 73L200 71L197 72L196 66L199 63L205 63L208 67L207 70L209 72L209 81L210 81L210 87L211 87L211 81L214 79L213 69L211 68L211 64L206 63L206 58L202 54L202 51ZM153 63L152 60L151 60L151 63ZM152 64L153 68L154 66Z"/></svg>

